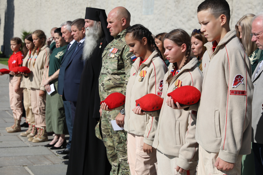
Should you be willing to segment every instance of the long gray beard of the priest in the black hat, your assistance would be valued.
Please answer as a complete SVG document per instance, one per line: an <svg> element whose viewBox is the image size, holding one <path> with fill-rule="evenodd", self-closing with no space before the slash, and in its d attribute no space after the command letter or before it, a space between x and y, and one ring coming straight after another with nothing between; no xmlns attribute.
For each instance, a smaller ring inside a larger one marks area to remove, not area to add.
<svg viewBox="0 0 263 175"><path fill-rule="evenodd" d="M95 25L86 28L86 37L83 45L82 59L87 61L91 58L93 51L98 45L101 30L97 29Z"/></svg>

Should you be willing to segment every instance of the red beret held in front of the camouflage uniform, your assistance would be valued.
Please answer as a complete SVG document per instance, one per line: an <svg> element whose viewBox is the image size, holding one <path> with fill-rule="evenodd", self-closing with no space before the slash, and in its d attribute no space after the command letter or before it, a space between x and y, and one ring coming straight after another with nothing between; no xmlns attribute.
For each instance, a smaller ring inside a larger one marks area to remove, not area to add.
<svg viewBox="0 0 263 175"><path fill-rule="evenodd" d="M113 92L112 94L108 95L108 97L101 101L100 104L105 102L109 109L114 109L120 107L125 104L125 95L119 92Z"/></svg>

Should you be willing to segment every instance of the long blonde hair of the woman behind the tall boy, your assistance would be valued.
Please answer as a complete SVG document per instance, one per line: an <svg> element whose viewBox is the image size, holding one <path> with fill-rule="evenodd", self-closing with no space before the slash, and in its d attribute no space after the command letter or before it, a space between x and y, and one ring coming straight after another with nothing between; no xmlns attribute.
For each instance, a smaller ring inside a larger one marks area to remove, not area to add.
<svg viewBox="0 0 263 175"><path fill-rule="evenodd" d="M236 36L240 39L240 33L238 30L238 26L241 26L242 29L242 38L240 39L247 56L249 56L254 50L257 49L257 45L255 42L251 41L251 28L252 28L252 19L254 14L246 14L236 23L235 30Z"/></svg>

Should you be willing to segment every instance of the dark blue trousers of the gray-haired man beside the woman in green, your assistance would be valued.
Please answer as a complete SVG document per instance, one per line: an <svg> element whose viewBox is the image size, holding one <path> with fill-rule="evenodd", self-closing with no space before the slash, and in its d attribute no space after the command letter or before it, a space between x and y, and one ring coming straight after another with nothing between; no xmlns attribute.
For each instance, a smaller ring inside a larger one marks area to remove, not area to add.
<svg viewBox="0 0 263 175"><path fill-rule="evenodd" d="M67 123L68 133L69 133L69 139L68 139L67 148L70 149L71 138L72 138L72 131L73 131L71 105L70 105L69 101L63 101L63 104L64 104L66 123Z"/></svg>

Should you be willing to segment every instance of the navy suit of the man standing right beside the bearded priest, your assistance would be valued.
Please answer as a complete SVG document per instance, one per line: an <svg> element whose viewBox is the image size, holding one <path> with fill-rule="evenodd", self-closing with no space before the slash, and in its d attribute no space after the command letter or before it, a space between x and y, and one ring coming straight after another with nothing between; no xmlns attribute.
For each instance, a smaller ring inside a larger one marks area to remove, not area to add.
<svg viewBox="0 0 263 175"><path fill-rule="evenodd" d="M73 55L70 57L64 75L63 97L67 101L70 101L73 125L75 118L75 109L78 99L80 78L84 68L84 64L82 60L84 42L85 41L83 41L83 43L80 44L80 46L75 51L75 53L73 53Z"/></svg>

